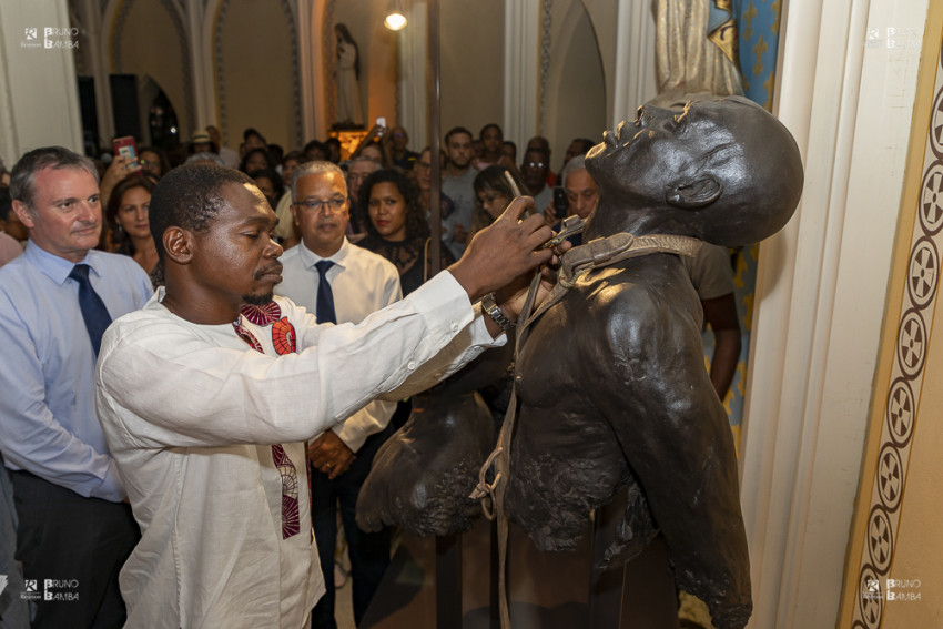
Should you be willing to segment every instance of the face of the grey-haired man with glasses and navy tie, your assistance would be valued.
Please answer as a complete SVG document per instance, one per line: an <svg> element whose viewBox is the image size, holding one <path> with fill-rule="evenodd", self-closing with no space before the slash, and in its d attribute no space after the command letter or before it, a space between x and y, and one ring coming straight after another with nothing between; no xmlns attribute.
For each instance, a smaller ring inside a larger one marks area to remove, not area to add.
<svg viewBox="0 0 943 629"><path fill-rule="evenodd" d="M324 172L303 176L297 182L292 214L295 224L302 233L304 245L320 255L329 257L337 253L344 244L344 234L351 212L347 201L347 185L339 173ZM334 201L343 202L339 211L332 210L329 204L320 203L314 207L307 202Z"/></svg>

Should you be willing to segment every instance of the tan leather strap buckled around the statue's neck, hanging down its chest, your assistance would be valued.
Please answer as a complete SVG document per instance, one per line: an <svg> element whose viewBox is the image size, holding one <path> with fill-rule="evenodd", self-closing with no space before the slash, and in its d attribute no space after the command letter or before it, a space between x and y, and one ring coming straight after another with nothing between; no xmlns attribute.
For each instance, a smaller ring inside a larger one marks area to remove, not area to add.
<svg viewBox="0 0 943 629"><path fill-rule="evenodd" d="M565 225L566 227L566 225ZM581 231L582 225L579 225ZM564 230L560 232L564 234ZM574 226L566 232L567 235L578 233ZM556 246L559 242L552 243L550 246ZM579 277L585 273L604 266L609 266L628 260L650 253L675 253L678 255L687 255L693 257L701 248L703 243L697 239L687 236L676 236L671 234L650 234L643 236L633 236L629 233L618 233L608 237L597 239L585 245L574 247L566 252L560 261L560 268L557 272L557 284L554 286L547 298L537 310L534 311L534 302L537 298L537 291L540 286L540 272L538 271L530 283L530 290L527 293L527 298L524 301L524 307L520 311L517 325L517 338L514 345L514 361L518 364L520 347L524 344L530 326L543 315L547 308L559 302L569 288L576 285ZM515 367L516 369L517 367ZM481 500L481 510L485 517L489 520L497 518L498 529L498 609L501 619L501 629L510 629L510 611L508 607L507 592L507 540L508 540L508 520L505 510L505 483L503 480L508 477L510 468L510 443L514 436L514 424L517 419L517 374L515 374L514 386L510 394L510 403L507 407L501 432L498 435L498 444L490 454L485 465L478 474L478 485L472 493L469 498L473 500ZM488 470L494 465L495 478L491 483L487 481ZM490 503L490 506L489 506Z"/></svg>

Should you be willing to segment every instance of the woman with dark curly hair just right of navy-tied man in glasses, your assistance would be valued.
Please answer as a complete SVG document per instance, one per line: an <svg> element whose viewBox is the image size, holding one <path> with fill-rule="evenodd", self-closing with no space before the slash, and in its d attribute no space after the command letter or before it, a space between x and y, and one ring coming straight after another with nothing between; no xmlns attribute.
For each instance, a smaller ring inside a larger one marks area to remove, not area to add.
<svg viewBox="0 0 943 629"><path fill-rule="evenodd" d="M372 173L358 200L362 225L367 235L359 244L396 265L403 295L418 288L430 276L429 225L419 207L416 186L396 169ZM442 247L442 267L454 260Z"/></svg>

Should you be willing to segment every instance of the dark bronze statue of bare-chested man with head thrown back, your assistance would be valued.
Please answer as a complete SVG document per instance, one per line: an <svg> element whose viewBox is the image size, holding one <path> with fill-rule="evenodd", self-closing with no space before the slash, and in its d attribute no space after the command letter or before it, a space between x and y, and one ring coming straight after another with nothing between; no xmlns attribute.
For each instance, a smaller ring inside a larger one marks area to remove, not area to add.
<svg viewBox="0 0 943 629"><path fill-rule="evenodd" d="M590 513L627 490L602 567L630 561L661 535L677 587L707 602L718 629L739 629L752 600L737 460L681 256L702 242L759 242L785 225L802 191L799 150L775 118L733 97L640 108L586 164L599 202L586 244L562 256L557 287L518 323L517 404L490 490L498 514L545 550L576 547ZM462 449L440 433L413 430L408 443L397 434L384 448L388 460L381 450L385 463L361 496L362 526L440 516L446 500L439 514L422 513L430 494L475 483L447 464L429 474L428 461ZM467 500L455 495L448 509Z"/></svg>

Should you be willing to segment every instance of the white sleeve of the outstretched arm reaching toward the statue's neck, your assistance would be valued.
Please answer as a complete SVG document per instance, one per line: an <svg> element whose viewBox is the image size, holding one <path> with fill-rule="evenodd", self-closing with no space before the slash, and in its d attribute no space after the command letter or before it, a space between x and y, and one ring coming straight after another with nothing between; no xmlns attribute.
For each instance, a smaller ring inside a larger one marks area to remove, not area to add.
<svg viewBox="0 0 943 629"><path fill-rule="evenodd" d="M305 440L377 396L428 388L504 343L449 273L358 325L315 325L305 315L300 327L290 318L307 348L277 357L221 346L201 329L225 326L149 308L115 322L102 344L97 402L113 449Z"/></svg>

